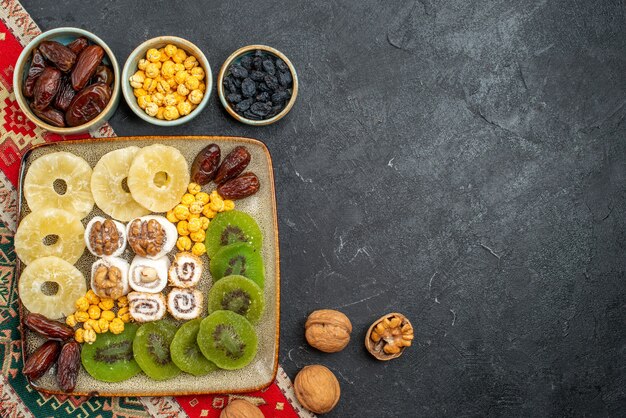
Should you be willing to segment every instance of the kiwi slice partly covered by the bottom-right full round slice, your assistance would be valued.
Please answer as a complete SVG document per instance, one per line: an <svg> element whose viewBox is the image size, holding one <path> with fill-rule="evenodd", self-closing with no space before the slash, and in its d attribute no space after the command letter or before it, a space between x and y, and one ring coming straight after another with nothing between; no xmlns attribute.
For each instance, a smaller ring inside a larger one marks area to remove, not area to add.
<svg viewBox="0 0 626 418"><path fill-rule="evenodd" d="M202 318L183 324L170 344L170 355L174 364L182 371L194 376L202 376L217 370L215 363L207 360L198 347L197 337L200 322L202 322Z"/></svg>

